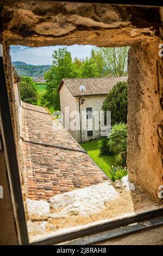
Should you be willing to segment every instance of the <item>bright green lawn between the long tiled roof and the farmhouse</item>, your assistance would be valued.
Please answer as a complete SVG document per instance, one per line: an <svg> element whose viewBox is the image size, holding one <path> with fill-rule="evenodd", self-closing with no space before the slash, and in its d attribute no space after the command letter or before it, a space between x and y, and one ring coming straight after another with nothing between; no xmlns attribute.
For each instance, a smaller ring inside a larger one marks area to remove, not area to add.
<svg viewBox="0 0 163 256"><path fill-rule="evenodd" d="M103 172L111 178L109 173L110 167L114 165L114 155L100 155L98 149L98 141L83 142L80 146L87 151L87 154L95 161L95 163L103 170Z"/></svg>

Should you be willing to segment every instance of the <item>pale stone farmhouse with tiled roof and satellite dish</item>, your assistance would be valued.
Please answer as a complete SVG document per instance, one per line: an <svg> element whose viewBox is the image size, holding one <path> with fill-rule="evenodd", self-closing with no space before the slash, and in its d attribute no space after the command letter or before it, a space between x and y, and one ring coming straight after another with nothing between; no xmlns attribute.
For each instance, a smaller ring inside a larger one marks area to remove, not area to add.
<svg viewBox="0 0 163 256"><path fill-rule="evenodd" d="M69 127L69 132L77 142L86 142L105 136L107 131L101 130L100 112L106 95L119 81L127 81L127 77L100 77L100 78L64 78L59 86L60 106L62 113L62 122L64 127L67 123L71 124L74 119L74 111L79 113L80 118L77 119L76 130ZM85 90L80 92L79 87L83 85ZM83 99L83 101L82 101ZM69 112L67 115L67 109ZM65 113L66 112L66 113ZM84 114L85 113L85 118ZM95 113L95 114L93 114ZM98 113L98 118L97 117ZM95 129L95 126L99 129ZM86 127L84 129L83 127ZM81 132L80 132L81 131Z"/></svg>

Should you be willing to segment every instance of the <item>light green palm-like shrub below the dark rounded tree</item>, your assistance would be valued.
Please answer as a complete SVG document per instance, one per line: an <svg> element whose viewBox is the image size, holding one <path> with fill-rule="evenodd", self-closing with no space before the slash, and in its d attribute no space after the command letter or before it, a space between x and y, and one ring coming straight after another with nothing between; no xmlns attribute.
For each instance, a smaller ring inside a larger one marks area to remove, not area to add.
<svg viewBox="0 0 163 256"><path fill-rule="evenodd" d="M108 136L109 150L115 154L116 163L126 164L127 158L127 124L115 124Z"/></svg>

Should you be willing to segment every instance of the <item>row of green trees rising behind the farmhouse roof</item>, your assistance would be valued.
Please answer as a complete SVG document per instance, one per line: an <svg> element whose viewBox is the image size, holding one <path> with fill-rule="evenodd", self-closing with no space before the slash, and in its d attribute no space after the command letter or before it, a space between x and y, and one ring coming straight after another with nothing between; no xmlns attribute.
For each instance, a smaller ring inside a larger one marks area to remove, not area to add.
<svg viewBox="0 0 163 256"><path fill-rule="evenodd" d="M53 52L53 65L45 73L46 93L41 97L41 105L49 109L60 109L58 87L62 78L84 78L127 75L128 47L93 47L90 58L72 60L66 47Z"/></svg>

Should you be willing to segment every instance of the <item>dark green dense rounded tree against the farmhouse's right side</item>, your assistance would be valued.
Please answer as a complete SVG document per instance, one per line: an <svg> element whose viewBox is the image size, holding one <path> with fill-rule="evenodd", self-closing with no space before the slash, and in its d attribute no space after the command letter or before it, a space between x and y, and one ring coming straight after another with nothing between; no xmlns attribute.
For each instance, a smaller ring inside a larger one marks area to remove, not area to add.
<svg viewBox="0 0 163 256"><path fill-rule="evenodd" d="M127 124L127 82L118 82L105 97L102 109L111 111L111 125L116 123Z"/></svg>

